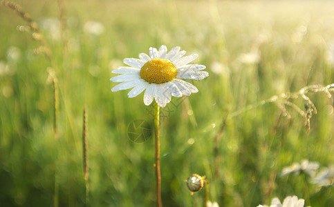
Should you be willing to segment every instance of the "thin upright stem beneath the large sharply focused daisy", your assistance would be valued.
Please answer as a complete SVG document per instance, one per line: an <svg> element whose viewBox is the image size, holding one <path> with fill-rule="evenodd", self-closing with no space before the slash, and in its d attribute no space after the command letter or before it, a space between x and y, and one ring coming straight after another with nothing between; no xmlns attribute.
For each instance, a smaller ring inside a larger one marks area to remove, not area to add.
<svg viewBox="0 0 334 207"><path fill-rule="evenodd" d="M160 174L160 127L159 127L160 106L154 103L154 132L156 136L156 201L158 207L163 206L161 201L161 174Z"/></svg>

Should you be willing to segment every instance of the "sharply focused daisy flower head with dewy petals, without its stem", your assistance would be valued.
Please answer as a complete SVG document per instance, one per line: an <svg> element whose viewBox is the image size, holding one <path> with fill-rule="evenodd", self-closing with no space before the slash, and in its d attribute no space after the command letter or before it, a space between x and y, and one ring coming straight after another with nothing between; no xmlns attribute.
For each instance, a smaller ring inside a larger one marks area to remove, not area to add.
<svg viewBox="0 0 334 207"><path fill-rule="evenodd" d="M198 89L184 81L201 80L209 76L203 71L205 66L198 64L188 64L198 57L196 54L185 56L185 51L180 51L180 47L172 48L167 52L166 46L149 48L149 55L139 54L139 59L126 58L123 60L128 66L121 66L112 72L119 74L112 77L113 82L120 82L111 88L111 91L127 90L129 98L140 95L145 90L144 103L149 105L153 99L160 107L165 107L171 101L171 96L189 96L198 92Z"/></svg>

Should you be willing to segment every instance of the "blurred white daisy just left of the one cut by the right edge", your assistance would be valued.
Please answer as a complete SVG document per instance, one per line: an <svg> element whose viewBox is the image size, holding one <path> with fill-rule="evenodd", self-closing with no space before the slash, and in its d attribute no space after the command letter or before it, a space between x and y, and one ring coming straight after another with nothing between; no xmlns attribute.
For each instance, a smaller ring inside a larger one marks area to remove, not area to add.
<svg viewBox="0 0 334 207"><path fill-rule="evenodd" d="M315 175L315 170L319 168L319 163L317 162L310 162L307 159L301 161L301 164L294 163L291 166L283 168L281 172L281 177L295 173L295 175L299 175L301 172L310 175L313 177Z"/></svg>

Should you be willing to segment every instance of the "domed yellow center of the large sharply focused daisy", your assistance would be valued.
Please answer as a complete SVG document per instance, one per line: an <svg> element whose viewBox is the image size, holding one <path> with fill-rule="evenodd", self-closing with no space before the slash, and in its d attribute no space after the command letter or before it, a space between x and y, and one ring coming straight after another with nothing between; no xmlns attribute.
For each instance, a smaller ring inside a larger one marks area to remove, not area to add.
<svg viewBox="0 0 334 207"><path fill-rule="evenodd" d="M166 83L176 78L175 66L169 59L155 58L147 61L140 69L140 77L149 83Z"/></svg>

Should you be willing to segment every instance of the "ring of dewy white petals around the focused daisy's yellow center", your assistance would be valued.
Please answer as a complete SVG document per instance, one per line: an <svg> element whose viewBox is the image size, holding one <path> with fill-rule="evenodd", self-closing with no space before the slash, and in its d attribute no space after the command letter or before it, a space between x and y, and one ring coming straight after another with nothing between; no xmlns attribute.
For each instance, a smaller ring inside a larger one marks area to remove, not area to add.
<svg viewBox="0 0 334 207"><path fill-rule="evenodd" d="M112 77L110 80L122 83L113 87L111 90L118 91L132 88L128 93L129 98L136 97L145 91L145 105L151 104L155 99L160 107L165 107L166 104L171 101L171 96L189 96L191 93L198 92L198 89L194 85L183 81L183 79L203 79L207 77L209 73L202 71L205 69L205 66L203 65L188 64L194 61L198 55L193 54L183 57L185 54L185 50L180 51L180 47L172 48L167 52L167 47L162 45L158 50L156 48L149 48L149 55L140 53L138 55L139 59L126 58L123 62L128 66L122 66L112 71L113 73L120 75ZM145 81L145 79L142 79L140 77L142 66L155 58L171 61L177 70L176 77L180 79L171 79L170 81L160 84L149 83Z"/></svg>

